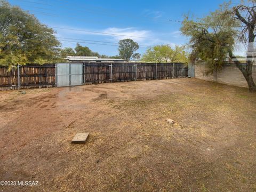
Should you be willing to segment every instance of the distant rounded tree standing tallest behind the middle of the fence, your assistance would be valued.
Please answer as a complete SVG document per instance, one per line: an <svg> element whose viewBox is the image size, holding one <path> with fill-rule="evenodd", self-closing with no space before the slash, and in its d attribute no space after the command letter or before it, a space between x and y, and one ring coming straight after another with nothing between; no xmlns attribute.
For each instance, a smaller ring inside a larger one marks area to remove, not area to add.
<svg viewBox="0 0 256 192"><path fill-rule="evenodd" d="M138 43L134 42L132 39L123 39L119 41L119 55L122 59L129 61L132 55L139 49Z"/></svg>

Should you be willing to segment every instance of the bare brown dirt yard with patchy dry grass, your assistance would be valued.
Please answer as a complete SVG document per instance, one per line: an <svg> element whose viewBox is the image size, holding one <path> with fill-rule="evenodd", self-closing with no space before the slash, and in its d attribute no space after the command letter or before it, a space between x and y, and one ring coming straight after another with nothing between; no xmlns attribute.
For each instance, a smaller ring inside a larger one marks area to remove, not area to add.
<svg viewBox="0 0 256 192"><path fill-rule="evenodd" d="M0 191L256 191L247 89L182 78L26 92L0 92L0 180L39 186Z"/></svg>

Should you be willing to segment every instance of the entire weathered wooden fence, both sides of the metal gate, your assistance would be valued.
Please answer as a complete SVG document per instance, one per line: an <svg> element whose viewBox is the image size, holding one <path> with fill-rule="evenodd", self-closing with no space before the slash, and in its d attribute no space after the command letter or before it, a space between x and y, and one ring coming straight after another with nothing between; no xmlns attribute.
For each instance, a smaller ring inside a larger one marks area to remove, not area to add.
<svg viewBox="0 0 256 192"><path fill-rule="evenodd" d="M20 73L18 73L18 70ZM84 84L187 76L188 67L183 63L83 63ZM19 66L13 67L10 71L6 67L0 67L1 90L17 89L19 84L23 89L55 86L55 64Z"/></svg>

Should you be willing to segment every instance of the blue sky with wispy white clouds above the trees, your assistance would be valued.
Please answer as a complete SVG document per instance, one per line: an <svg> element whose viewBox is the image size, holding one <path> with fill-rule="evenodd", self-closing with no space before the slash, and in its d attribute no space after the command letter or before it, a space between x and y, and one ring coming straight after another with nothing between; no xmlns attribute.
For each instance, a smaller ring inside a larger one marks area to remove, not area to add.
<svg viewBox="0 0 256 192"><path fill-rule="evenodd" d="M148 46L156 44L184 45L188 39L179 32L179 21L182 21L183 15L189 13L195 17L204 17L210 11L218 9L223 2L225 1L9 1L12 5L19 5L33 13L45 25L53 27L62 47L74 48L76 42L81 42L81 45L88 46L92 51L106 55L118 54L117 43L124 38L136 41L140 45L138 52L141 54Z"/></svg>

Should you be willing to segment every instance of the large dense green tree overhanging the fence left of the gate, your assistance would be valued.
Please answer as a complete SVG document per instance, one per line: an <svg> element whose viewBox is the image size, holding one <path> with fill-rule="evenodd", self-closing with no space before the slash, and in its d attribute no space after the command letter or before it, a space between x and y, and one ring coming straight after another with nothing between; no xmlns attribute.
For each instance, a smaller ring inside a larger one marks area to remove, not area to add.
<svg viewBox="0 0 256 192"><path fill-rule="evenodd" d="M49 63L59 57L54 31L34 15L0 1L0 65Z"/></svg>

